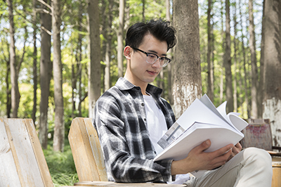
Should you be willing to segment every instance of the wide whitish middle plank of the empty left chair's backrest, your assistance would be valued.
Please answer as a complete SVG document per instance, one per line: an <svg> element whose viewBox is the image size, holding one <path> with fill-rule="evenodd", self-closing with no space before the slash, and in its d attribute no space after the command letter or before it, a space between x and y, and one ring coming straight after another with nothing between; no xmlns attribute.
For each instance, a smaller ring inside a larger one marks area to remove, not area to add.
<svg viewBox="0 0 281 187"><path fill-rule="evenodd" d="M22 119L4 120L21 186L44 186L32 143Z"/></svg>

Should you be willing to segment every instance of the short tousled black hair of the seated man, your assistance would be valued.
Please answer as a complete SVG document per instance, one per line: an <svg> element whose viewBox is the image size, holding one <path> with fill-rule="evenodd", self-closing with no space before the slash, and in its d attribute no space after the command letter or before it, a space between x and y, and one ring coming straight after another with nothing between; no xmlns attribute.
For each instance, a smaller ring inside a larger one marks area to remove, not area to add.
<svg viewBox="0 0 281 187"><path fill-rule="evenodd" d="M126 46L138 48L143 42L146 34L152 34L159 41L166 41L168 49L176 45L176 30L167 20L149 20L148 22L137 22L126 33Z"/></svg>

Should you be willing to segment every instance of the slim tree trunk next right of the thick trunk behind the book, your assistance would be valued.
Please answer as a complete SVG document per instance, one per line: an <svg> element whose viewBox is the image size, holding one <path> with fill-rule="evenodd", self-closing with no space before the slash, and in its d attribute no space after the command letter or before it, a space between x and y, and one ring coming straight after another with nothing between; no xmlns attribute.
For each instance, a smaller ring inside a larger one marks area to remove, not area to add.
<svg viewBox="0 0 281 187"><path fill-rule="evenodd" d="M212 49L212 27L211 27L211 9L212 9L212 0L208 0L208 10L207 10L207 34L208 34L208 51L207 51L207 64L208 64L208 91L207 95L214 101L214 61L211 60Z"/></svg>

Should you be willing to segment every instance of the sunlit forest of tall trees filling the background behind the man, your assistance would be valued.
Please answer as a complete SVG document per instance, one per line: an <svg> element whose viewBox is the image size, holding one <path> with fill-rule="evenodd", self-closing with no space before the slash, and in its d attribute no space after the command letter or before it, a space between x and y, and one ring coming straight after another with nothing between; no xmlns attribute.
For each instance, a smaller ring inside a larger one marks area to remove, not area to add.
<svg viewBox="0 0 281 187"><path fill-rule="evenodd" d="M244 119L270 118L280 146L280 10L275 0L0 1L0 117L32 118L53 181L73 184L72 119L93 117L98 97L123 76L128 27L164 18L176 27L178 44L152 84L176 116L207 93Z"/></svg>

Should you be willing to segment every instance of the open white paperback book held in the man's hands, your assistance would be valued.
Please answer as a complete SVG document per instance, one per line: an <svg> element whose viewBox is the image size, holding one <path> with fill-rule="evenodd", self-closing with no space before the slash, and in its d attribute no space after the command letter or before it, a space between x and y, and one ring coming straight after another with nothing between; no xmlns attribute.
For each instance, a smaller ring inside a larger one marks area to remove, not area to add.
<svg viewBox="0 0 281 187"><path fill-rule="evenodd" d="M230 143L235 145L244 138L241 131L248 125L238 115L240 114L236 112L226 114L226 102L216 108L206 94L195 99L158 141L164 150L154 161L181 160L188 156L192 148L207 139L211 141L211 146L206 152L218 150ZM195 176L202 173L204 172L192 172Z"/></svg>

